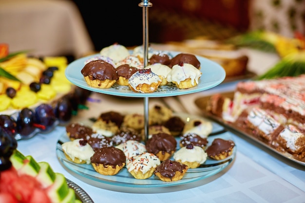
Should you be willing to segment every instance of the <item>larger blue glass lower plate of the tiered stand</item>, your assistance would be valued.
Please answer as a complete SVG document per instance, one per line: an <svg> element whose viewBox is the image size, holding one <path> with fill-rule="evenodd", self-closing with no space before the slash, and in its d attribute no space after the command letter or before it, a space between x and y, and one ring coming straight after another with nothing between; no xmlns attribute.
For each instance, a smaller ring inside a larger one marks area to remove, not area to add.
<svg viewBox="0 0 305 203"><path fill-rule="evenodd" d="M176 115L180 116L185 122L189 122L192 118L195 118L195 116L182 113ZM215 138L233 140L232 134L230 132L223 131L224 128L221 125L214 122L212 122L212 125L214 135L208 137L208 146ZM224 170L234 160L236 154L235 146L233 148L232 155L227 159L216 161L208 158L207 161L200 167L188 169L187 173L181 180L175 182L163 182L154 175L145 180L135 179L127 171L126 167L121 169L119 173L114 176L105 176L97 173L92 165L75 164L69 161L62 151L61 144L67 141L70 141L68 136L66 134L62 134L57 143L56 153L60 164L64 166L68 172L87 184L103 189L130 193L161 193L168 191L168 189L171 189L171 191L187 189L194 182L209 178ZM177 140L177 149L179 148L178 145L179 140Z"/></svg>

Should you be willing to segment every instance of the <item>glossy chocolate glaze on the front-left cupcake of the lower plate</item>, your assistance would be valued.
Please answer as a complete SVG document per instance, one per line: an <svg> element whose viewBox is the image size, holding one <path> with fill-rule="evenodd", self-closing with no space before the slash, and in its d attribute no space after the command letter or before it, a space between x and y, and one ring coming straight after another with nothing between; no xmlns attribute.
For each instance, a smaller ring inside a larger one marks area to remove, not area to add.
<svg viewBox="0 0 305 203"><path fill-rule="evenodd" d="M100 148L90 158L92 164L102 164L105 166L112 166L115 168L116 165L123 166L126 161L124 152L115 147Z"/></svg>

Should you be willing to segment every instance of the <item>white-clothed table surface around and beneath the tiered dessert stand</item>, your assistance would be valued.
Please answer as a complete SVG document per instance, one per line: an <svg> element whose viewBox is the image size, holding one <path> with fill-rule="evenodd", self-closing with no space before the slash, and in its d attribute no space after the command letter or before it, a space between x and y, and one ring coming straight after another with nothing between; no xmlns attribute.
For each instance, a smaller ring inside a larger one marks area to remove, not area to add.
<svg viewBox="0 0 305 203"><path fill-rule="evenodd" d="M272 61L269 61L268 65L271 63ZM234 90L235 85L236 82L229 82L203 92L150 98L149 105L166 104L175 112L201 115L200 110L196 109L194 99L214 92ZM71 122L81 122L111 110L143 113L144 108L143 98L126 98L96 92L91 94L86 105L88 109L79 110ZM50 133L40 133L29 140L19 140L18 149L24 155L32 155L38 162L48 162L54 171L64 174L83 188L95 203L301 203L305 200L305 166L281 157L239 134L232 133L237 148L235 159L221 172L186 185L165 187L163 192L154 193L152 188L148 194L139 194L136 188L134 193L102 189L74 177L57 158L56 145L63 133L65 127L57 126Z"/></svg>

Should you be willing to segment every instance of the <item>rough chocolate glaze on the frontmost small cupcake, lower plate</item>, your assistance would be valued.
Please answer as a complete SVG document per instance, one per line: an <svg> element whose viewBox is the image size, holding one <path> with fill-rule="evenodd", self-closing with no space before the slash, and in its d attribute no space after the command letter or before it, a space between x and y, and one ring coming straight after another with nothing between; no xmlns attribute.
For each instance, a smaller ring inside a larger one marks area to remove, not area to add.
<svg viewBox="0 0 305 203"><path fill-rule="evenodd" d="M176 171L183 173L183 169L185 168L187 168L187 165L167 159L158 165L153 173L160 173L163 177L172 179L172 177L175 176Z"/></svg>

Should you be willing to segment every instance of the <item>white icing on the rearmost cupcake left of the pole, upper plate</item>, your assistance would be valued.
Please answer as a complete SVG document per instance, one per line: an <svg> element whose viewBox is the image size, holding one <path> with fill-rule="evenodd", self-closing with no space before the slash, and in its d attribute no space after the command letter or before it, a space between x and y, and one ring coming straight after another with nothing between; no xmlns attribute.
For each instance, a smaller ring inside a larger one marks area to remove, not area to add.
<svg viewBox="0 0 305 203"><path fill-rule="evenodd" d="M120 44L113 44L105 47L99 52L99 54L110 57L114 63L117 63L130 55L128 49Z"/></svg>

